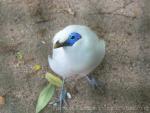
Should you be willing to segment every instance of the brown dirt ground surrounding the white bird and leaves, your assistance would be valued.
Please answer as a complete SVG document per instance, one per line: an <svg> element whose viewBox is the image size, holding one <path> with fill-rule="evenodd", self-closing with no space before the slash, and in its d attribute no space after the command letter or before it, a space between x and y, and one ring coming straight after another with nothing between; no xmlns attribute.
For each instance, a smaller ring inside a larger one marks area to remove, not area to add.
<svg viewBox="0 0 150 113"><path fill-rule="evenodd" d="M106 87L96 92L81 79L65 112L150 113L150 0L0 0L0 96L6 99L0 113L35 113L51 39L70 24L87 25L106 41L105 59L93 72ZM33 72L35 64L42 70ZM51 105L43 111L52 112L59 111Z"/></svg>

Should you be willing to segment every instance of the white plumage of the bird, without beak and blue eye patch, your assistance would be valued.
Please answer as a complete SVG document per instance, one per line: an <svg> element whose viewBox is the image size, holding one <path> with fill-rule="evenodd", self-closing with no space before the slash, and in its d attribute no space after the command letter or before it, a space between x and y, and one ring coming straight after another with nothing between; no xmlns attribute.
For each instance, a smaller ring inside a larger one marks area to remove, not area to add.
<svg viewBox="0 0 150 113"><path fill-rule="evenodd" d="M72 46L53 48L52 56L48 57L51 69L64 79L89 74L105 55L105 41L83 25L69 25L56 33L53 47L58 41L65 42L72 32L79 33L81 39Z"/></svg>

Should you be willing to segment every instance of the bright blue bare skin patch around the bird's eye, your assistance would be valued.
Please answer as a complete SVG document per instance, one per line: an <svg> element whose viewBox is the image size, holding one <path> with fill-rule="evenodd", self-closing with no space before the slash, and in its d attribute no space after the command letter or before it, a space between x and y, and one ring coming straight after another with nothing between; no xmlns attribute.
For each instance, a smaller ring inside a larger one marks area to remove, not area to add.
<svg viewBox="0 0 150 113"><path fill-rule="evenodd" d="M76 32L72 32L69 35L69 38L65 41L66 46L72 46L74 43L76 43L81 38L81 35Z"/></svg>

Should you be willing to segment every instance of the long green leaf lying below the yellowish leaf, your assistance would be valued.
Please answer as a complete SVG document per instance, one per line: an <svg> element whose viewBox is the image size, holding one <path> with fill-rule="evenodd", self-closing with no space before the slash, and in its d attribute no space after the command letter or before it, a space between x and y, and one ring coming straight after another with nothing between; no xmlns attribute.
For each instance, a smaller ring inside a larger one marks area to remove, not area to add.
<svg viewBox="0 0 150 113"><path fill-rule="evenodd" d="M37 106L36 113L39 113L50 101L55 91L55 86L52 84L48 84L40 93Z"/></svg>

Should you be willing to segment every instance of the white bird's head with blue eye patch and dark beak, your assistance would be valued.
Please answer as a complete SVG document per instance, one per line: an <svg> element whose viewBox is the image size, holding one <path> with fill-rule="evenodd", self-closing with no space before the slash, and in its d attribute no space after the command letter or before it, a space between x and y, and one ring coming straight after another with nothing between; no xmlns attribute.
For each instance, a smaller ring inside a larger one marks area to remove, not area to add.
<svg viewBox="0 0 150 113"><path fill-rule="evenodd" d="M53 48L73 48L86 42L92 31L81 25L70 25L56 33L53 39Z"/></svg>

